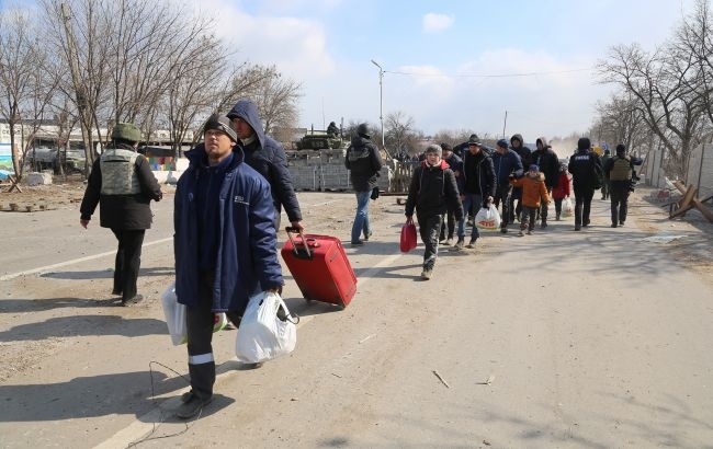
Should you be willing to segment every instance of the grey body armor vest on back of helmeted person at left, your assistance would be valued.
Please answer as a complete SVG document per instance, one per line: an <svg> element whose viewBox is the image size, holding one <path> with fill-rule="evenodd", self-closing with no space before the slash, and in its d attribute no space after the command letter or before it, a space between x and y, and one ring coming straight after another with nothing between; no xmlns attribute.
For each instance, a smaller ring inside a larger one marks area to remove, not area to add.
<svg viewBox="0 0 713 449"><path fill-rule="evenodd" d="M102 171L102 195L135 195L142 193L136 174L138 153L122 148L105 150L99 159Z"/></svg>

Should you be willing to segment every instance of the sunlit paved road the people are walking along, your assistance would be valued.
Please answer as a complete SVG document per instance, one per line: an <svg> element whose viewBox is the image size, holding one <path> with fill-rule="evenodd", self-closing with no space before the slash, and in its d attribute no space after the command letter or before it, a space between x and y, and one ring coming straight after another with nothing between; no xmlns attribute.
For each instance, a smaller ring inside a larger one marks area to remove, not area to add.
<svg viewBox="0 0 713 449"><path fill-rule="evenodd" d="M301 195L303 203L329 209L353 202ZM612 230L606 204L595 202L593 226L584 232L573 232L571 222L552 222L532 237L487 234L475 251L442 252L427 283L417 279L422 246L398 253L400 212L384 206L375 241L348 249L360 285L344 311L305 303L288 280L285 298L303 316L292 356L242 370L233 360L235 331L216 336L216 400L188 426L170 418L185 388L178 376L185 373L185 349L170 346L158 301L116 311L13 292L10 299L24 295L43 304L45 321L34 325L78 310L84 322L100 320L101 326L88 324L91 332L82 333L59 320L43 327L49 330L44 337L23 337L32 334L30 306L15 299L2 309L16 319L0 329L2 341L55 346L22 378L0 383L1 446L713 442L713 289L710 279L642 241L648 235L643 220L657 211L633 207L627 226ZM98 244L92 251L110 250ZM147 288L158 292L170 278L162 272L171 266L170 254L170 244L145 250L144 266L156 269ZM23 268L54 261L27 257ZM75 278L71 273L91 273L110 261L80 262L42 280ZM0 288L21 288L24 278Z"/></svg>

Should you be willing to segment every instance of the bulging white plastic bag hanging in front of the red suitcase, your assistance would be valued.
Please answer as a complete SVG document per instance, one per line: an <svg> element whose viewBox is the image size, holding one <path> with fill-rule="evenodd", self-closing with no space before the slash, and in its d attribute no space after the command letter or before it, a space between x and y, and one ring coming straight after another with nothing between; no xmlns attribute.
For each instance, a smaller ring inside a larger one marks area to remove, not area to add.
<svg viewBox="0 0 713 449"><path fill-rule="evenodd" d="M278 316L282 307L286 319ZM263 291L250 298L240 320L235 355L239 361L257 364L295 349L297 327L280 295Z"/></svg>

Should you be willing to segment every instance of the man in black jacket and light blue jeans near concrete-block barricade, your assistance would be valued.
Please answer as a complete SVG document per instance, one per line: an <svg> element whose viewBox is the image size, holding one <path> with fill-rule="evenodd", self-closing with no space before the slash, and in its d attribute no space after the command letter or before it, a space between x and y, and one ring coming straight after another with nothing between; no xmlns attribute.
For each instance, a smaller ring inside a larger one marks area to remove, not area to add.
<svg viewBox="0 0 713 449"><path fill-rule="evenodd" d="M362 245L372 235L369 222L369 200L376 187L382 170L382 156L371 141L369 126L363 123L356 127L356 136L351 140L344 158L344 166L350 171L350 179L356 194L356 215L351 228L351 244ZM360 237L364 234L364 240Z"/></svg>

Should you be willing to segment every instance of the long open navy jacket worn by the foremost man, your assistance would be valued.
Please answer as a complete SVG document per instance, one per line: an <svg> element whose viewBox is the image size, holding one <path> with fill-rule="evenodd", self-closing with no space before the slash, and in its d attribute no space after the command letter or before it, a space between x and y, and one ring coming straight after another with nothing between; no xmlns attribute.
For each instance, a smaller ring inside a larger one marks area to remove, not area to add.
<svg viewBox="0 0 713 449"><path fill-rule="evenodd" d="M237 147L236 147L237 148ZM207 176L207 157L196 147L185 153L189 168L176 189L173 251L176 295L188 307L199 303L199 179ZM217 239L212 310L242 313L250 296L282 286L270 184L234 150L223 172L214 232Z"/></svg>

